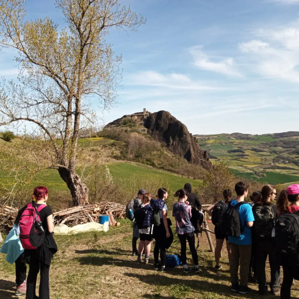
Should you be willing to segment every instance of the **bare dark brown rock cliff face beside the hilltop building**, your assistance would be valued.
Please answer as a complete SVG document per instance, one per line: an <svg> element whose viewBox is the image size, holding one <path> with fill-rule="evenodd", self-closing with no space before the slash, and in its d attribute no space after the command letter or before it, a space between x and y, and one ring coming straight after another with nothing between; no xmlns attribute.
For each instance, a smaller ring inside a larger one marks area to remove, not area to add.
<svg viewBox="0 0 299 299"><path fill-rule="evenodd" d="M167 111L152 113L144 119L144 127L153 139L165 142L167 148L187 161L212 169L206 151L202 151L187 127Z"/></svg>

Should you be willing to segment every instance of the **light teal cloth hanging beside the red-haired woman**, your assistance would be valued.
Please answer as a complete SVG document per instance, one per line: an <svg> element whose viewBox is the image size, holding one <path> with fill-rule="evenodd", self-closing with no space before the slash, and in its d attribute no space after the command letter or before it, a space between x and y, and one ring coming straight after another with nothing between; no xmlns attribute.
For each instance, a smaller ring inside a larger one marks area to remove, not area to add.
<svg viewBox="0 0 299 299"><path fill-rule="evenodd" d="M1 253L6 253L6 261L13 264L15 260L23 253L24 248L22 247L19 236L16 232L18 231L19 225L13 225L13 228L7 235L5 242L0 248Z"/></svg>

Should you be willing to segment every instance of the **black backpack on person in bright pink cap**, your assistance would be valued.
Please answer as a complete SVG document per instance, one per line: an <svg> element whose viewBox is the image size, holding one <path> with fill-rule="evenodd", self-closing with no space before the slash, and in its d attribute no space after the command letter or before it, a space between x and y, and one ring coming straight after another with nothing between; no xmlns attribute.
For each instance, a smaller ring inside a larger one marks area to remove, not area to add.
<svg viewBox="0 0 299 299"><path fill-rule="evenodd" d="M299 254L299 213L283 213L275 224L275 245L279 254Z"/></svg>

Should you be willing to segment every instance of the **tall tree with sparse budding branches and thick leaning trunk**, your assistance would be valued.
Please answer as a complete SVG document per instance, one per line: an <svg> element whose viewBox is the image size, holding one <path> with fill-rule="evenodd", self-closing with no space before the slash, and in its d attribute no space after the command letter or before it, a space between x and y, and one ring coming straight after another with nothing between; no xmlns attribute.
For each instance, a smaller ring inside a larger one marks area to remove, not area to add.
<svg viewBox="0 0 299 299"><path fill-rule="evenodd" d="M74 204L85 204L88 188L75 169L80 129L96 118L90 98L108 109L121 79L121 57L105 36L113 27L136 30L145 20L119 0L56 0L66 22L58 32L49 18L25 21L23 3L0 0L0 43L17 50L21 82L1 84L0 125L33 123L47 151L36 152L39 170L57 169Z"/></svg>

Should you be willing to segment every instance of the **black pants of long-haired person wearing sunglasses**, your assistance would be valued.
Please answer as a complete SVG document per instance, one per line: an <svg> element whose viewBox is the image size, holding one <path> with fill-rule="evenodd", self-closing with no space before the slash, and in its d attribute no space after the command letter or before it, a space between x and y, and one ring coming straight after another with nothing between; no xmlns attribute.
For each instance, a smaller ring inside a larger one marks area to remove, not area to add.
<svg viewBox="0 0 299 299"><path fill-rule="evenodd" d="M279 259L275 254L274 241L272 239L260 239L255 241L255 255L256 270L257 270L257 282L259 284L259 290L266 292L268 289L266 281L266 260L269 256L270 263L270 288L278 289L280 287L280 265Z"/></svg>

